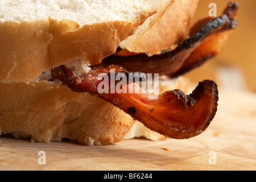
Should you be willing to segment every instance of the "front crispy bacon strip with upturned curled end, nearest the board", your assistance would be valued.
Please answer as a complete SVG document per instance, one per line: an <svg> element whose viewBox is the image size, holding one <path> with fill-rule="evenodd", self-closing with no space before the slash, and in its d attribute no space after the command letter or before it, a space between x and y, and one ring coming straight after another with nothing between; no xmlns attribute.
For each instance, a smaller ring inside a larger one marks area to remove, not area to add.
<svg viewBox="0 0 256 182"><path fill-rule="evenodd" d="M133 86L133 93L102 93L97 91L98 73L129 73L119 65L97 65L83 77L61 65L52 69L53 79L64 82L74 92L89 92L119 107L131 117L141 121L152 131L169 138L187 139L199 135L209 126L217 111L218 90L214 81L205 80L189 95L181 90L171 90L158 95L156 100L148 100L146 93L134 82L123 86L126 91ZM117 83L116 83L117 84ZM137 92L136 92L137 90Z"/></svg>

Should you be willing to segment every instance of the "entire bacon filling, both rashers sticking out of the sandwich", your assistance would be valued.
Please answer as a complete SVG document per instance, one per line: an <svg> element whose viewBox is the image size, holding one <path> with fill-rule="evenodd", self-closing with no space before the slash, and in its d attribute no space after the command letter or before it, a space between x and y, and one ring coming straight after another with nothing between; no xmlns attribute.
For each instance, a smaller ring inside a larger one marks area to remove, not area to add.
<svg viewBox="0 0 256 182"><path fill-rule="evenodd" d="M155 100L148 100L150 93L144 92L135 82L127 82L122 86L126 91L132 86L135 90L133 93L111 93L111 90L109 93L99 93L97 88L102 80L98 79L98 75L100 73L110 75L111 69L115 69L115 75L123 73L127 77L132 72L179 76L218 53L212 50L218 50L220 47L217 43L223 39L227 30L237 26L234 19L237 9L236 3L229 3L222 16L201 20L191 29L191 38L181 43L174 51L151 57L143 54L126 57L110 56L101 64L92 65L88 73L79 76L72 68L61 65L52 69L52 79L63 81L74 92L97 94L152 131L166 137L175 139L194 137L207 129L216 114L218 89L214 81L200 82L189 95L185 95L181 90L171 90L158 95Z"/></svg>

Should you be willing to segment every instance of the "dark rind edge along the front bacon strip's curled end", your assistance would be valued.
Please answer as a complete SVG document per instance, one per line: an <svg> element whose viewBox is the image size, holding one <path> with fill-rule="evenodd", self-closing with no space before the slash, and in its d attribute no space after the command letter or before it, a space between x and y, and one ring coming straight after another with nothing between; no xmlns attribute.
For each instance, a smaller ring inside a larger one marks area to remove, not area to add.
<svg viewBox="0 0 256 182"><path fill-rule="evenodd" d="M210 90L210 93L209 93L209 90ZM174 90L174 91L178 91L178 90ZM212 80L204 80L202 82L199 82L199 85L196 87L196 89L193 90L193 92L189 95L185 95L183 92L175 92L175 94L176 94L177 100L179 98L185 98L185 102L181 102L181 103L192 104L191 106L189 106L188 110L193 110L193 107L197 104L197 102L201 99L201 97L208 97L208 101L210 102L210 107L208 109L208 113L206 114L204 122L201 122L200 126L190 127L190 128L177 127L177 126L175 127L173 125L166 124L157 118L152 117L149 113L145 113L144 115L142 115L143 118L147 118L147 122L144 122L144 120L141 119L142 117L138 117L138 115L131 115L131 116L137 119L138 121L141 121L143 125L151 129L152 131L156 131L157 133L162 134L167 138L188 139L203 133L207 129L207 127L210 125L210 122L213 120L217 112L217 106L218 106L217 84ZM184 113L185 113L185 109L184 109ZM195 118L191 116L191 119L193 120ZM150 122L156 122L158 127L156 126L151 127L151 125L148 124Z"/></svg>

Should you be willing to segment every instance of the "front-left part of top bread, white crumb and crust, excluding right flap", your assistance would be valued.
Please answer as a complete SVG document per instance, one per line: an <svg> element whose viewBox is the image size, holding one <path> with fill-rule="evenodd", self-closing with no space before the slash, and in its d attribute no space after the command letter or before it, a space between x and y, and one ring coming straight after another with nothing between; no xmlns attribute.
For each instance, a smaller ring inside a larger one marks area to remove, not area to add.
<svg viewBox="0 0 256 182"><path fill-rule="evenodd" d="M28 82L73 59L101 63L156 11L143 0L0 1L0 81Z"/></svg>

